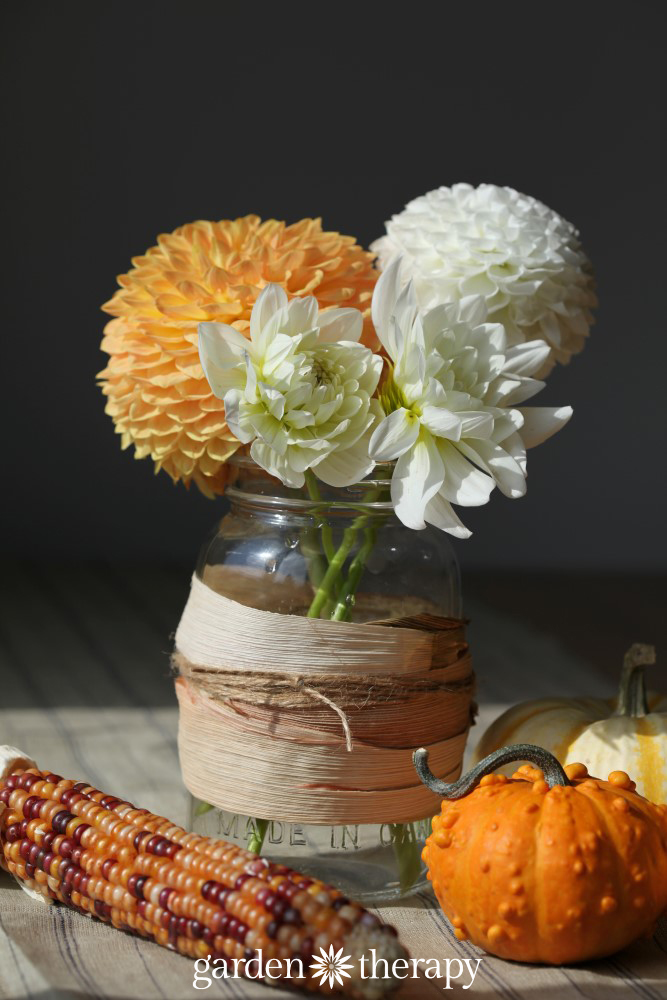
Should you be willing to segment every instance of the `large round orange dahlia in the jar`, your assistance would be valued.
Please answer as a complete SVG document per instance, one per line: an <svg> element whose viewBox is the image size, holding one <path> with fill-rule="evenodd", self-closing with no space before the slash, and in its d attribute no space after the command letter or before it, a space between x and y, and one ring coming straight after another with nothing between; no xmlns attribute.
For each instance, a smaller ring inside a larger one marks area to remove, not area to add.
<svg viewBox="0 0 667 1000"><path fill-rule="evenodd" d="M122 447L134 445L136 458L150 455L155 471L165 469L174 482L222 493L225 463L240 442L204 377L197 324L214 320L245 333L255 299L277 282L290 296L314 295L321 309L359 309L362 339L375 346L373 259L353 237L324 232L319 219L288 226L248 215L159 236L102 306L114 319L102 341L109 363L98 377Z"/></svg>

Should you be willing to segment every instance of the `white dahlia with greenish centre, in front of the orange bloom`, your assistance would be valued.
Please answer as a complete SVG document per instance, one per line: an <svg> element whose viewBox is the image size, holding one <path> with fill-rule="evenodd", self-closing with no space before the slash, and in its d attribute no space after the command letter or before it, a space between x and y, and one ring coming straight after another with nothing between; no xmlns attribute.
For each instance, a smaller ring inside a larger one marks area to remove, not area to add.
<svg viewBox="0 0 667 1000"><path fill-rule="evenodd" d="M316 299L288 301L279 285L258 297L250 340L224 323L199 324L202 367L228 427L286 486L303 486L307 469L348 486L374 466L382 359L357 343L362 326L356 309L319 313Z"/></svg>

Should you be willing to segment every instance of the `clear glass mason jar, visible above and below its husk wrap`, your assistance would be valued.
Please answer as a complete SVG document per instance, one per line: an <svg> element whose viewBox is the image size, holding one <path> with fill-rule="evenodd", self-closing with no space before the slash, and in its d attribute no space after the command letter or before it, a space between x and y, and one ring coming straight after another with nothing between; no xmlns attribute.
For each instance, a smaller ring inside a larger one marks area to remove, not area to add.
<svg viewBox="0 0 667 1000"><path fill-rule="evenodd" d="M419 614L460 618L458 563L448 536L406 528L389 498L391 465L332 489L284 487L250 459L232 459L229 511L203 545L197 576L262 611L356 623ZM332 586L332 555L340 572ZM327 576L328 571L328 576ZM430 817L413 823L322 826L232 814L190 797L190 825L333 884L362 902L425 884Z"/></svg>

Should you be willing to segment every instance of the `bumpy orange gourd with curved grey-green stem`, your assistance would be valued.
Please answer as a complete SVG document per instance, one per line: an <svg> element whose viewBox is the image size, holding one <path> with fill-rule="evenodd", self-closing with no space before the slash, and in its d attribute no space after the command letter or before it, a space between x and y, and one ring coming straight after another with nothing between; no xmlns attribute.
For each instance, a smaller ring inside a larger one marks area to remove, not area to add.
<svg viewBox="0 0 667 1000"><path fill-rule="evenodd" d="M414 759L444 796L422 857L460 940L515 961L581 962L649 934L667 909L667 807L623 771L600 781L520 744L446 785L425 750ZM520 760L539 768L492 773Z"/></svg>

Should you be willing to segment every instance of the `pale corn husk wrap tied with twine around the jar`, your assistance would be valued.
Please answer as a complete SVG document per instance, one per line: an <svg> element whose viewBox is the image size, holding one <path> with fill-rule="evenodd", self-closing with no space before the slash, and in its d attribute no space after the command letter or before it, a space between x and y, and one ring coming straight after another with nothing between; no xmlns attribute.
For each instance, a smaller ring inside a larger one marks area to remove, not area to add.
<svg viewBox="0 0 667 1000"><path fill-rule="evenodd" d="M219 808L405 823L437 808L415 775L416 746L445 780L460 774L474 675L459 619L275 614L195 576L173 659L183 779Z"/></svg>

